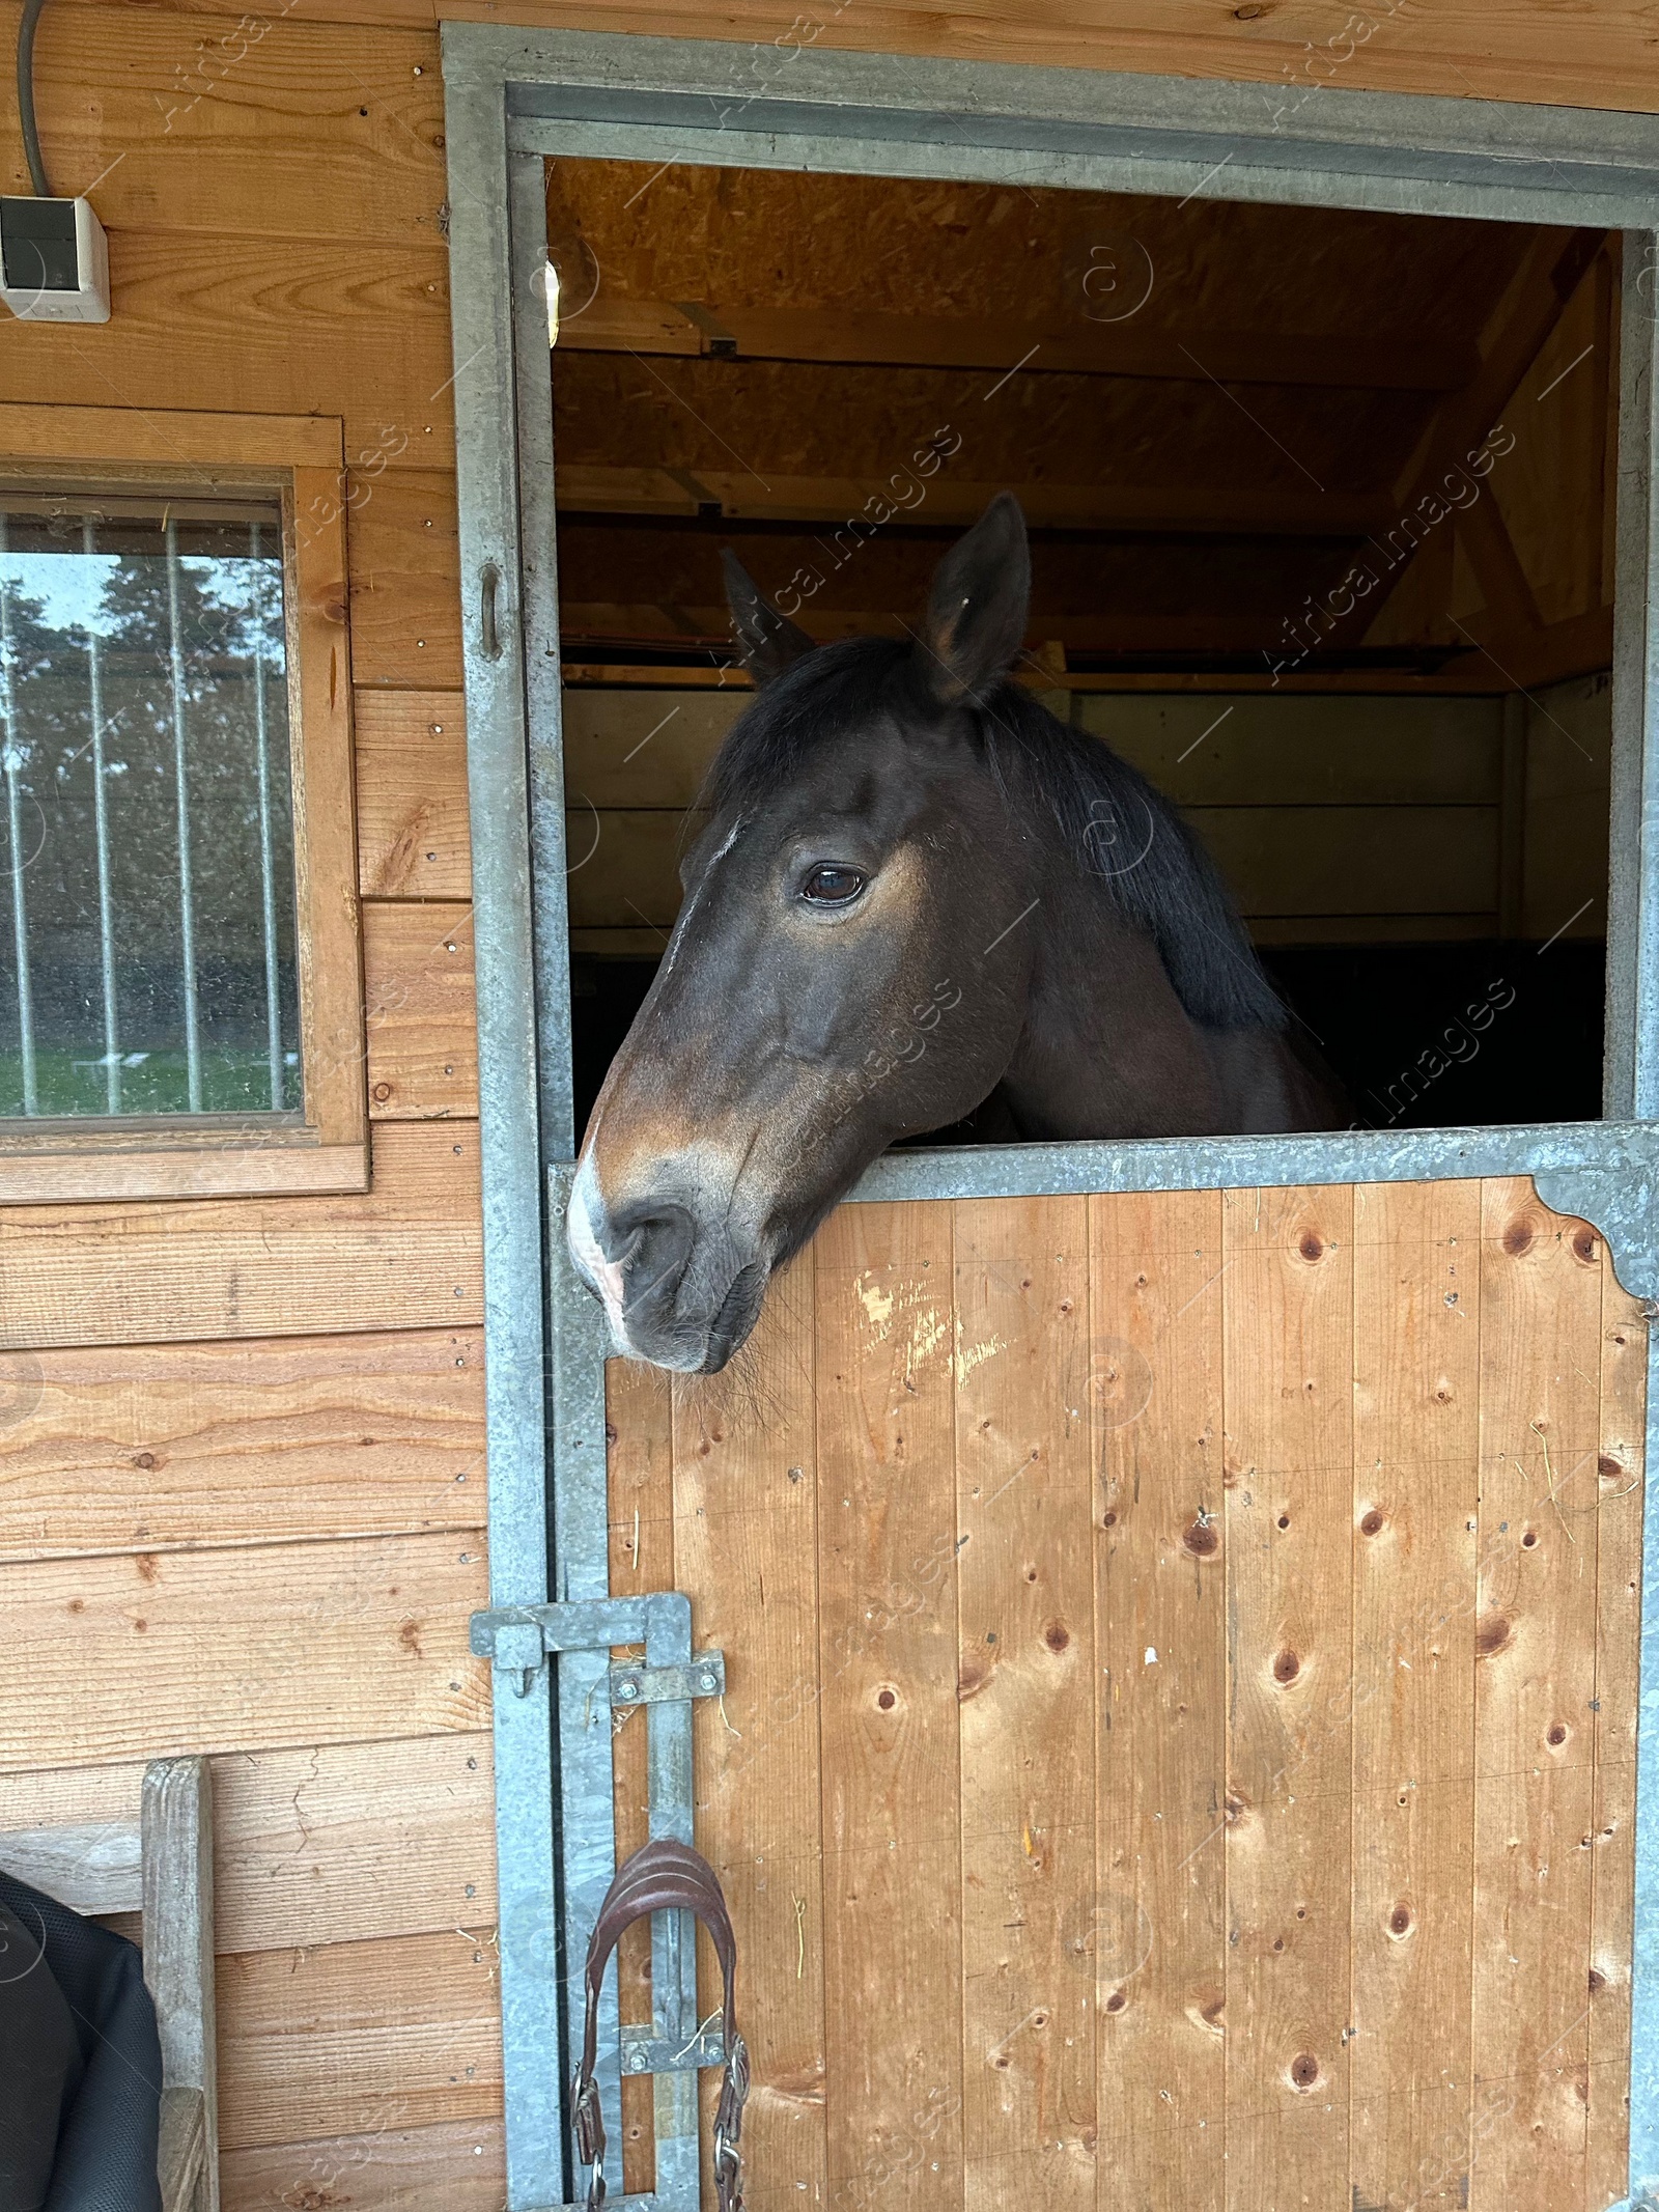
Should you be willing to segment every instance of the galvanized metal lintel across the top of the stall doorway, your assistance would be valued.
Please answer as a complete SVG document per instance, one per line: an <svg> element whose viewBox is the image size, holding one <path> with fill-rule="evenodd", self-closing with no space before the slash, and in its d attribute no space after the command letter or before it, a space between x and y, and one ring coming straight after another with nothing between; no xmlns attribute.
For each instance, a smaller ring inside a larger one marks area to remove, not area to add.
<svg viewBox="0 0 1659 2212"><path fill-rule="evenodd" d="M750 44L445 24L445 69L509 86L509 144L526 153L1177 197L1203 184L1214 199L1610 228L1659 208L1648 115L894 58L790 31Z"/></svg>

